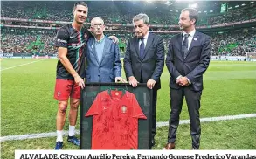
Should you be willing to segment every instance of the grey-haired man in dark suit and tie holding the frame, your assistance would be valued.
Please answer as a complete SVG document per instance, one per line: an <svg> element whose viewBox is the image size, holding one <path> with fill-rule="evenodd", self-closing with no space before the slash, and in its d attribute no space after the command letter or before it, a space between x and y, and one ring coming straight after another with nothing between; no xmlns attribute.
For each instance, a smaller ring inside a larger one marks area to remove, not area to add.
<svg viewBox="0 0 256 159"><path fill-rule="evenodd" d="M149 17L146 14L136 15L133 24L136 36L128 40L123 59L124 71L130 85L136 87L137 83L147 83L148 88L153 89L151 146L154 146L157 90L161 88L160 76L164 66L163 38L149 33Z"/></svg>

